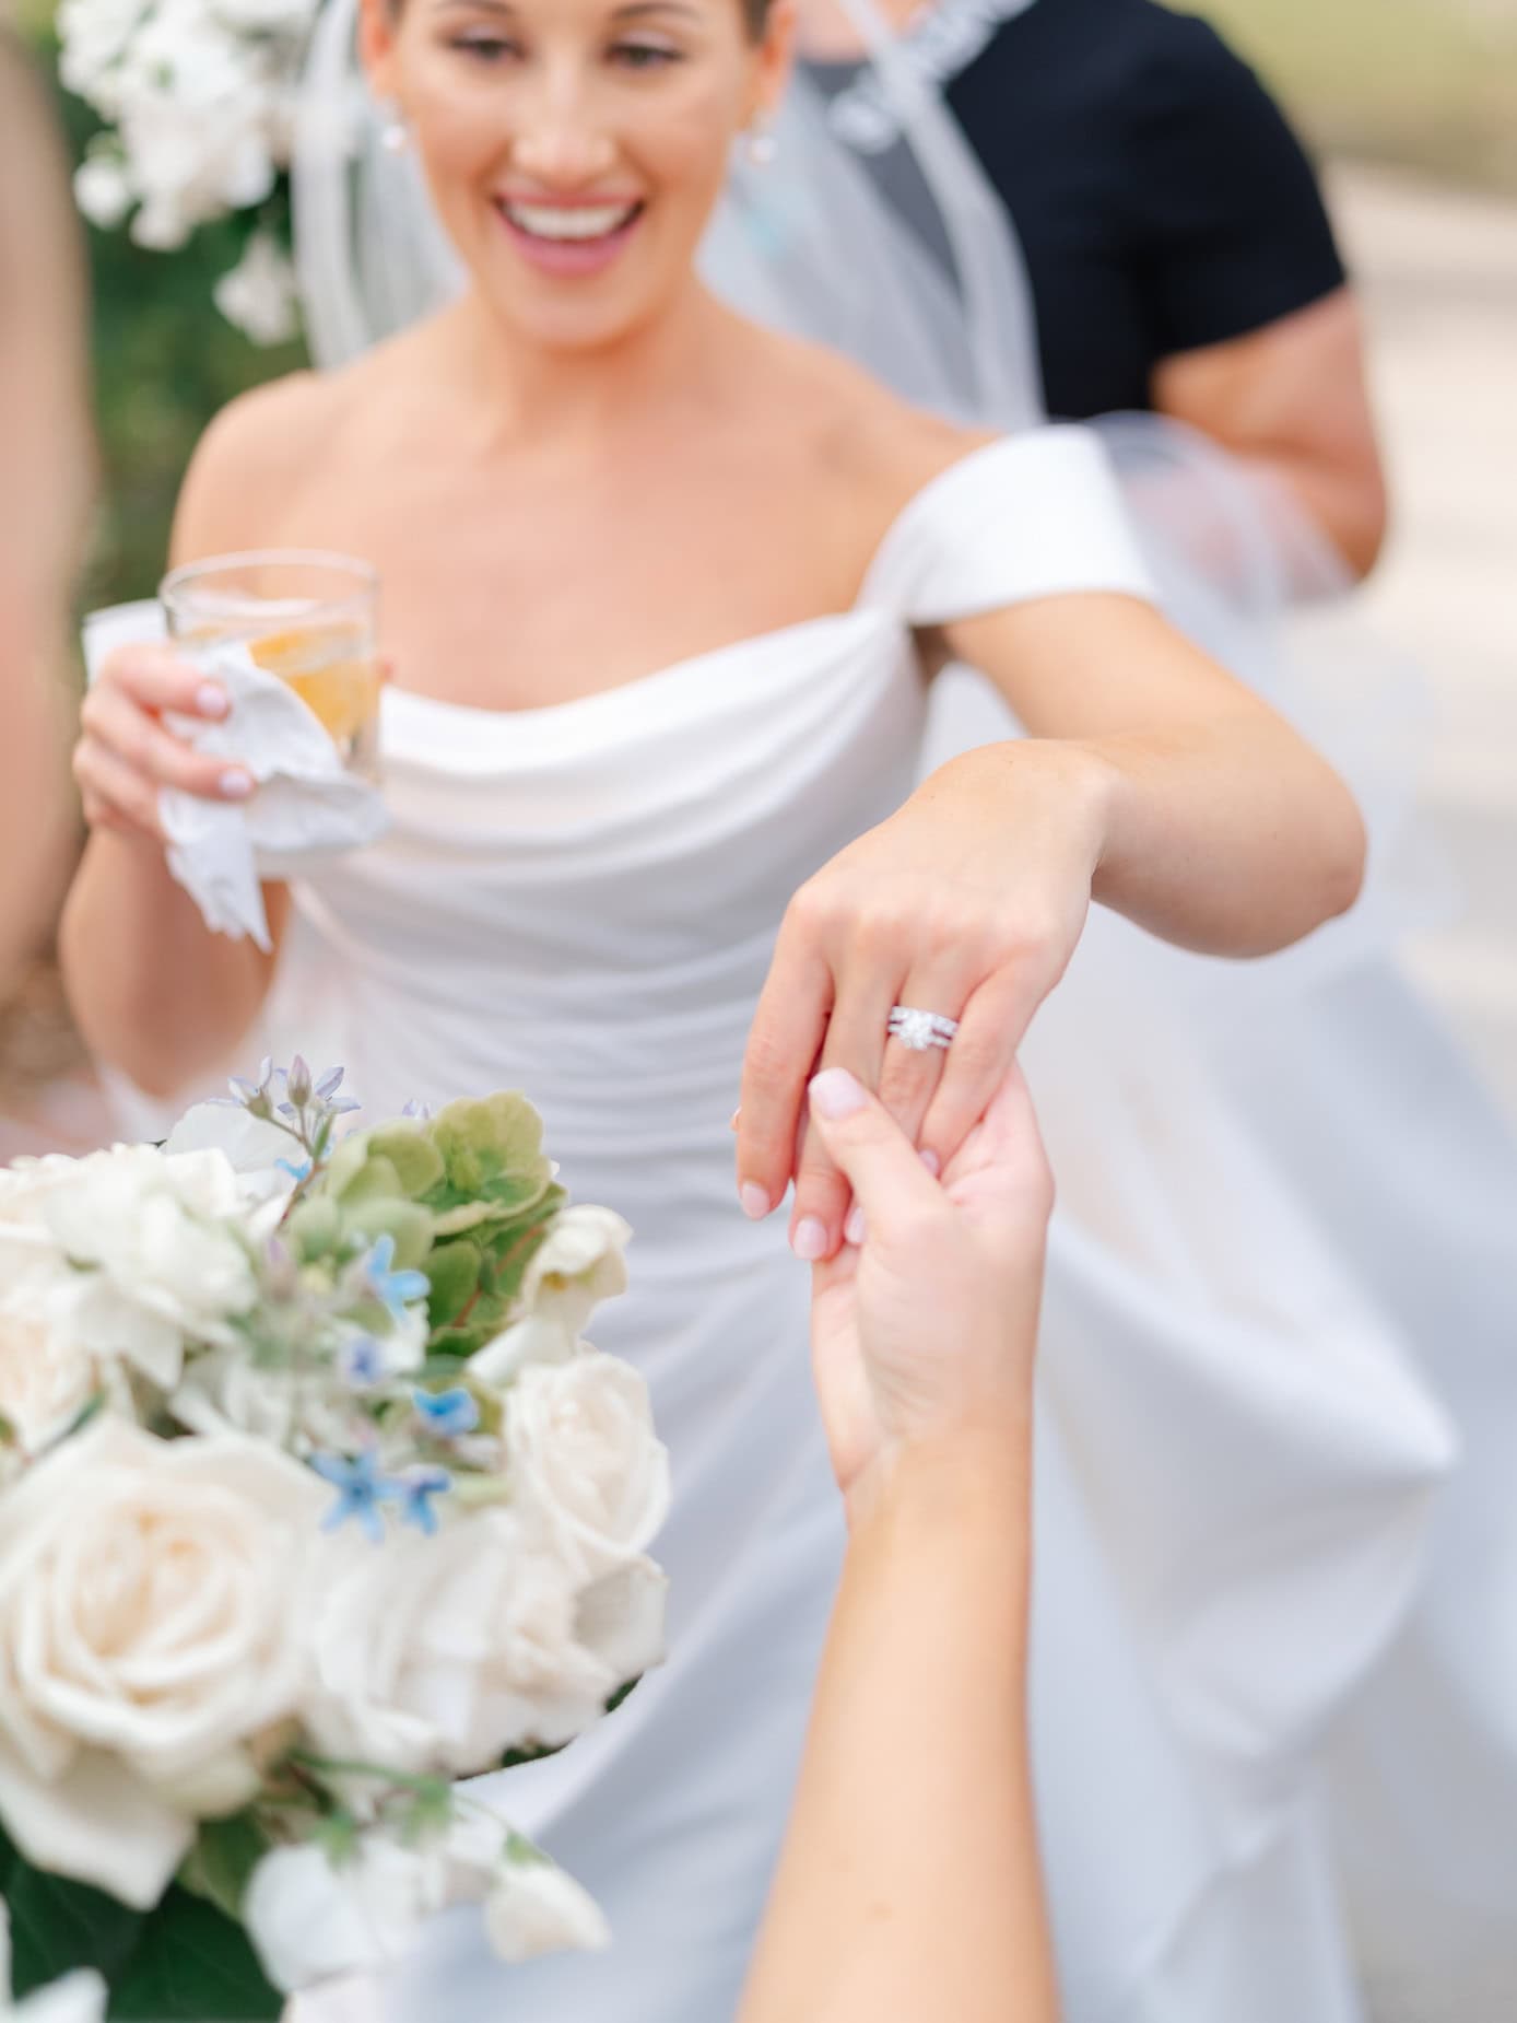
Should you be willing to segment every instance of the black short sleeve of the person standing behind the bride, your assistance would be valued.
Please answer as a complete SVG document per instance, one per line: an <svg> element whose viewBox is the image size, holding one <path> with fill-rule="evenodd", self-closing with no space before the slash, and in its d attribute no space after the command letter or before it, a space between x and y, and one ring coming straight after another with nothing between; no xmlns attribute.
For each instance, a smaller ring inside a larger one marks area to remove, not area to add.
<svg viewBox="0 0 1517 2023"><path fill-rule="evenodd" d="M1343 285L1317 176L1258 77L1169 16L1127 95L1133 255L1155 358L1222 344Z"/></svg>

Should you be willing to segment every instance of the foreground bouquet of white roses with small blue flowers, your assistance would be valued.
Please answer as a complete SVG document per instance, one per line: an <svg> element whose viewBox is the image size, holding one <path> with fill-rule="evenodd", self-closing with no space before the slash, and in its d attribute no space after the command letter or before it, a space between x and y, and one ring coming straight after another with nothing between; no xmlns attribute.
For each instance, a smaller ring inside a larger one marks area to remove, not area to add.
<svg viewBox="0 0 1517 2023"><path fill-rule="evenodd" d="M0 1171L0 1896L34 2023L277 2017L457 1902L504 1960L607 1938L453 1780L661 1655L667 1457L581 1339L629 1232L568 1206L522 1096L342 1137L340 1080L265 1062L162 1147Z"/></svg>

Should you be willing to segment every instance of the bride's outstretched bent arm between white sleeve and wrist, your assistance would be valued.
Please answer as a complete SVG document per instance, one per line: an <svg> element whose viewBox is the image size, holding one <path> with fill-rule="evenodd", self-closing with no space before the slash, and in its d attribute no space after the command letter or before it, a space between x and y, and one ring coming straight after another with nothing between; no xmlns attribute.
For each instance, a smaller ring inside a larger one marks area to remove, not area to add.
<svg viewBox="0 0 1517 2023"><path fill-rule="evenodd" d="M1349 789L1157 611L1048 599L957 627L955 647L1005 670L1030 732L926 783L987 833L1013 797L1046 805L1050 833L1092 838L1098 900L1210 955L1266 955L1353 904L1365 833Z"/></svg>

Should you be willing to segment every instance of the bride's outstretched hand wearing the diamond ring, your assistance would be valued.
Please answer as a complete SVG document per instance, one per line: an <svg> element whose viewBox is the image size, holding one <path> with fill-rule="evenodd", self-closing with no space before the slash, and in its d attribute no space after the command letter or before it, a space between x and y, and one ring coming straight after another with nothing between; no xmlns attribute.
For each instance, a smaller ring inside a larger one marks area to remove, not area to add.
<svg viewBox="0 0 1517 2023"><path fill-rule="evenodd" d="M738 1188L769 1214L795 1173L791 1242L843 1240L850 1190L805 1131L805 1082L847 1068L947 1165L1064 975L1090 906L1104 771L1078 746L967 753L805 884L785 916L742 1070ZM949 1048L888 1034L894 1005L957 1020Z"/></svg>

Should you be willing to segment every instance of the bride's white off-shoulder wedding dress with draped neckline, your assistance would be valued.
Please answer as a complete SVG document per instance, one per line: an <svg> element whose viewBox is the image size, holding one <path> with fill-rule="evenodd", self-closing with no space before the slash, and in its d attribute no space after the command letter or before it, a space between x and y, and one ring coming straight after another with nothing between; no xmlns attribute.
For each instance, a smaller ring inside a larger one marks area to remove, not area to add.
<svg viewBox="0 0 1517 2023"><path fill-rule="evenodd" d="M912 787L910 627L1072 589L1141 595L1143 568L1092 437L1044 429L920 492L847 613L554 708L388 694L394 829L297 888L269 1042L336 1048L370 1115L522 1086L574 1194L633 1222L597 1333L674 1457L672 1653L564 1756L492 1780L615 1946L508 1974L455 1914L301 2023L732 2015L841 1544L807 1270L734 1198L746 1030L791 892ZM1175 1113L1104 1044L1141 1016L1141 941L1096 912L1025 1048L1036 1092L1056 1070L1062 1190L1034 1756L1066 2013L1357 2023L1319 1746L1406 1616L1452 1438L1206 1062L1171 1076L1155 1022Z"/></svg>

